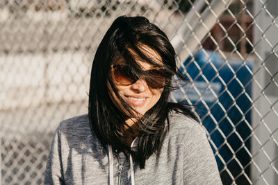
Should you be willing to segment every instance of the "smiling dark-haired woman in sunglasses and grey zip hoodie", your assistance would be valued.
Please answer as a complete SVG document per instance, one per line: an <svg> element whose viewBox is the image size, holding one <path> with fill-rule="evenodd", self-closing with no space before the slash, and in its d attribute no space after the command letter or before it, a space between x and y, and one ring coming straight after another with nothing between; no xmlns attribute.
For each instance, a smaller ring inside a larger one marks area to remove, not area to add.
<svg viewBox="0 0 278 185"><path fill-rule="evenodd" d="M169 103L169 39L145 17L118 17L92 63L89 112L60 123L45 184L221 184L206 134ZM184 80L184 79L183 79Z"/></svg>

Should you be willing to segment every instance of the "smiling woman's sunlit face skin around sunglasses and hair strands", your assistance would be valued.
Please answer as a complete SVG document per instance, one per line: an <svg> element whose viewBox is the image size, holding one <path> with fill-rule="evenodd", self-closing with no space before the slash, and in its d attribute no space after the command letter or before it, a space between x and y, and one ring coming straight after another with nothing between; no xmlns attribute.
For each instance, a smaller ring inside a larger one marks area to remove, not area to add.
<svg viewBox="0 0 278 185"><path fill-rule="evenodd" d="M142 48L147 51L145 55L154 58L157 63L162 64L161 56L158 55L156 51L149 48L149 46L142 46ZM144 71L154 69L152 64L140 60L138 60L137 62ZM121 64L121 61L118 61L117 64ZM126 101L126 103L128 103L131 107L133 107L133 109L136 110L137 114L139 114L139 117L144 115L158 102L163 91L163 88L154 89L152 87L149 87L145 78L142 77L131 85L122 85L116 81L115 85L120 96Z"/></svg>

